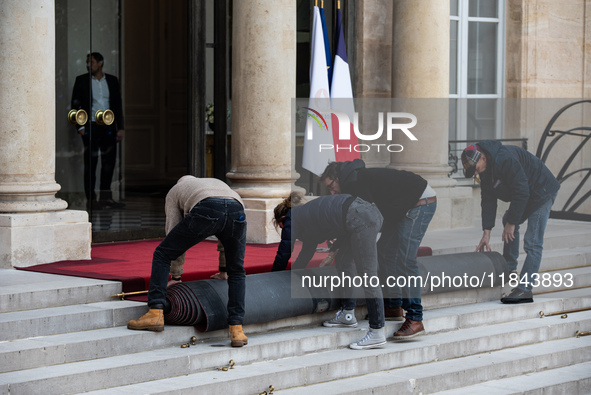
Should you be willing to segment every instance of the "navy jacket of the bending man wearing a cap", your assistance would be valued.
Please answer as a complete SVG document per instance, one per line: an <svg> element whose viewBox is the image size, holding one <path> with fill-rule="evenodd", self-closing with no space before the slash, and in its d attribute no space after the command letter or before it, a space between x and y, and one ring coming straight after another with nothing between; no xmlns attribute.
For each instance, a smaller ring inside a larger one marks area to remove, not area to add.
<svg viewBox="0 0 591 395"><path fill-rule="evenodd" d="M495 226L497 199L511 202L506 219L517 225L560 189L544 162L523 148L494 140L477 145L488 154L486 170L480 174L482 229Z"/></svg>

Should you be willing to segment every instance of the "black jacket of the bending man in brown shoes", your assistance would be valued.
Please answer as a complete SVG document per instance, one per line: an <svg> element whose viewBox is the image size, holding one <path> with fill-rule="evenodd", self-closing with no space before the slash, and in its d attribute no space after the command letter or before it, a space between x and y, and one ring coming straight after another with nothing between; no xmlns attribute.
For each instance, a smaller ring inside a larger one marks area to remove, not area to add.
<svg viewBox="0 0 591 395"><path fill-rule="evenodd" d="M367 169L361 159L342 162L337 172L341 192L375 203L384 222L404 218L427 188L427 181L419 175L396 169Z"/></svg>

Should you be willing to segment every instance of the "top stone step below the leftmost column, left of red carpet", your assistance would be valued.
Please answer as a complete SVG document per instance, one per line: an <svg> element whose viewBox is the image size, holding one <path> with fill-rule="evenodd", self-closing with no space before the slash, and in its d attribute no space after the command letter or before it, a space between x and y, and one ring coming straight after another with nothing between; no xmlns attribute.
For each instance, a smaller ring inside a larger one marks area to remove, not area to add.
<svg viewBox="0 0 591 395"><path fill-rule="evenodd" d="M36 310L110 300L119 281L0 269L0 312Z"/></svg>

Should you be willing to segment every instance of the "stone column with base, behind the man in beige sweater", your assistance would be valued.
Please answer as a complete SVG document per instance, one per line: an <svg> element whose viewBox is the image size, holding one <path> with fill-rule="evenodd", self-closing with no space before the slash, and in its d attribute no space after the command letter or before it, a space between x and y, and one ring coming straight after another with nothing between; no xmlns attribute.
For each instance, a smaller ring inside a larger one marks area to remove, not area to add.
<svg viewBox="0 0 591 395"><path fill-rule="evenodd" d="M232 37L232 188L244 198L248 242L279 233L273 208L291 191L291 100L296 82L296 2L234 2Z"/></svg>

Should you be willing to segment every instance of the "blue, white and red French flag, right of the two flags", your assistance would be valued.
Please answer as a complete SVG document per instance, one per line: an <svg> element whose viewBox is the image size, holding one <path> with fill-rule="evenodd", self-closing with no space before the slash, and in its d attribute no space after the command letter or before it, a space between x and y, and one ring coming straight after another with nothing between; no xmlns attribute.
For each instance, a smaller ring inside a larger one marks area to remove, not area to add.
<svg viewBox="0 0 591 395"><path fill-rule="evenodd" d="M353 102L353 89L351 87L351 73L347 63L347 48L345 47L345 35L343 34L343 18L341 9L337 10L337 34L336 54L333 62L333 75L330 86L330 103L333 110L345 113L349 117L350 140L339 139L339 120L332 114L332 136L335 145L335 158L337 162L360 159L359 152L355 151L359 140L353 131L353 120L355 116L355 104Z"/></svg>

